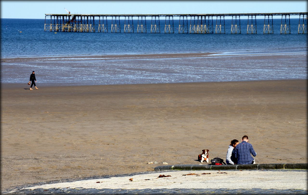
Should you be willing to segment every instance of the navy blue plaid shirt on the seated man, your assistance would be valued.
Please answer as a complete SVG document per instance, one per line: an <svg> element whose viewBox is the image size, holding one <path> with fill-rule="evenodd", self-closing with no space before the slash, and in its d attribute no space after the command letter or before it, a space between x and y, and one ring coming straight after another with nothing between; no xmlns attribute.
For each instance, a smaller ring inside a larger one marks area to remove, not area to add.
<svg viewBox="0 0 308 195"><path fill-rule="evenodd" d="M237 144L235 148L235 158L237 158L237 164L251 164L253 162L253 158L250 154L257 156L257 153L253 150L250 143L242 141Z"/></svg>

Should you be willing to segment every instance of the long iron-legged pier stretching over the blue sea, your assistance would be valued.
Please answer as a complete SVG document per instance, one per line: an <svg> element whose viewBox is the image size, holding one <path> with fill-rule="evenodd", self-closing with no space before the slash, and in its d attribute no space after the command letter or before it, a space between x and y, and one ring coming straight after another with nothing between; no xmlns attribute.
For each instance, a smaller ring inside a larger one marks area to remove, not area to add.
<svg viewBox="0 0 308 195"><path fill-rule="evenodd" d="M216 33L224 34L225 17L232 19L231 34L241 34L241 20L247 21L247 34L257 34L257 16L264 17L263 34L274 34L273 16L281 16L280 34L290 34L290 16L298 16L298 34L308 33L306 12L250 14L45 14L44 31L111 33ZM124 24L121 24L120 17ZM177 32L174 17L179 18ZM111 24L107 23L111 19ZM137 21L137 24L134 22ZM149 20L151 23L149 23ZM164 24L161 21L164 20ZM108 29L108 25L111 27ZM122 25L122 26L121 26ZM147 32L150 25L150 32ZM246 26L244 26L246 29Z"/></svg>

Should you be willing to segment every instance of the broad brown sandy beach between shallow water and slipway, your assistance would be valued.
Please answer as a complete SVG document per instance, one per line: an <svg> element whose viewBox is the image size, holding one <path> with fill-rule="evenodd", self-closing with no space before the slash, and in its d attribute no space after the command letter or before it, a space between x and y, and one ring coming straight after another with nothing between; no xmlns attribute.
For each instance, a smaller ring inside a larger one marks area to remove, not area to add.
<svg viewBox="0 0 308 195"><path fill-rule="evenodd" d="M1 189L225 159L307 162L307 80L42 87L1 84ZM157 161L158 164L147 164Z"/></svg>

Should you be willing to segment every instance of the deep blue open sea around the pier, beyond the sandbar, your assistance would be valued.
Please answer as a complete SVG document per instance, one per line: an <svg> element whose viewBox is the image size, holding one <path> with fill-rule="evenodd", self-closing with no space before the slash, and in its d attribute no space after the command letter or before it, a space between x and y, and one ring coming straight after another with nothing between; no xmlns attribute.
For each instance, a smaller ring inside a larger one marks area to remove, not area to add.
<svg viewBox="0 0 308 195"><path fill-rule="evenodd" d="M135 24L137 23L134 21ZM245 23L246 22L246 23ZM122 23L122 31L123 24ZM1 19L1 56L29 57L54 55L94 55L128 53L187 53L211 51L303 51L307 49L307 34L297 34L298 19L291 19L291 34L280 34L281 19L274 19L274 34L263 35L263 19L257 19L257 33L246 34L247 21L241 20L241 34L231 34L231 20L225 21L226 34L176 33L78 33L45 32L43 19ZM147 21L150 32L151 21ZM215 20L214 20L215 24ZM108 21L111 25L111 21ZM246 27L246 28L245 28ZM214 27L215 28L215 27ZM111 29L109 26L108 29ZM215 30L215 29L214 29ZM22 33L19 33L22 31Z"/></svg>

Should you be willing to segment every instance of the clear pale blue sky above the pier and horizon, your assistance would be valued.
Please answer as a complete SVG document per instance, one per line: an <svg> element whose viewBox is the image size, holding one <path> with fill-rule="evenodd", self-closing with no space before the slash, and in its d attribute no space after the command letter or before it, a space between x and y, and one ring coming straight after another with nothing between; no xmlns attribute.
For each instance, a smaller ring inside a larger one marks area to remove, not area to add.
<svg viewBox="0 0 308 195"><path fill-rule="evenodd" d="M1 1L1 18L45 19L45 14L234 14L307 12L307 1ZM298 16L293 16L298 18ZM274 18L274 17L273 17ZM281 16L280 16L281 18ZM290 16L292 18L292 16Z"/></svg>

